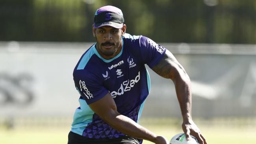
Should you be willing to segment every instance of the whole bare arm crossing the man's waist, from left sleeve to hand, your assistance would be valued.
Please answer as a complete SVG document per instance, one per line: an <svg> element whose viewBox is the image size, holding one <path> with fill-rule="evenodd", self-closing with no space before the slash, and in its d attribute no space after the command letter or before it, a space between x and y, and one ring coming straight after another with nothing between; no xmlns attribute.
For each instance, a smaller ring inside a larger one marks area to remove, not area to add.
<svg viewBox="0 0 256 144"><path fill-rule="evenodd" d="M149 140L156 144L168 143L165 138L157 136L145 127L134 122L132 119L118 113L115 101L109 93L102 99L89 104L89 107L107 124L126 135Z"/></svg>

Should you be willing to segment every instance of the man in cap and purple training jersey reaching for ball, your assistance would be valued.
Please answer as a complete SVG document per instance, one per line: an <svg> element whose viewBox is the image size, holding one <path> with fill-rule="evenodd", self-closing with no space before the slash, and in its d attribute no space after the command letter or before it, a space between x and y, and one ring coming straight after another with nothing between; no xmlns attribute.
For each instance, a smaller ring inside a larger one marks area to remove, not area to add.
<svg viewBox="0 0 256 144"><path fill-rule="evenodd" d="M192 134L206 144L191 118L191 87L184 68L151 39L125 32L119 8L104 6L96 11L96 43L82 55L73 73L81 96L68 144L141 144L143 139L169 144L166 138L137 124L150 91L145 64L174 81L186 137Z"/></svg>

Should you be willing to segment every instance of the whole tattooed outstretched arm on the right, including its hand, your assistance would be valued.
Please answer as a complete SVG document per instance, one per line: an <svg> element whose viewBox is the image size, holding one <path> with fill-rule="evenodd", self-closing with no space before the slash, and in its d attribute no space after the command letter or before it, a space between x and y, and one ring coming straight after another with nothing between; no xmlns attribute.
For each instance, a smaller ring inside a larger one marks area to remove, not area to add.
<svg viewBox="0 0 256 144"><path fill-rule="evenodd" d="M197 137L201 144L207 144L205 138L202 136L191 117L190 79L182 65L178 63L169 50L166 50L163 58L152 68L152 70L163 78L171 79L174 82L183 117L182 129L184 133L186 133L186 137L189 138L189 134L191 134Z"/></svg>

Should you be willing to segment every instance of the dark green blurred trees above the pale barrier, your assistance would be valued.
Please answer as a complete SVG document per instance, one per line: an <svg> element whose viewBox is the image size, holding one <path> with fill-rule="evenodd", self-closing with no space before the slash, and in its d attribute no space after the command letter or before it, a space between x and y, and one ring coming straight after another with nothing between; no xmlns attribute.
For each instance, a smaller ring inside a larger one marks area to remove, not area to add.
<svg viewBox="0 0 256 144"><path fill-rule="evenodd" d="M127 33L156 42L256 43L255 0L1 0L0 41L93 42L106 5L122 9Z"/></svg>

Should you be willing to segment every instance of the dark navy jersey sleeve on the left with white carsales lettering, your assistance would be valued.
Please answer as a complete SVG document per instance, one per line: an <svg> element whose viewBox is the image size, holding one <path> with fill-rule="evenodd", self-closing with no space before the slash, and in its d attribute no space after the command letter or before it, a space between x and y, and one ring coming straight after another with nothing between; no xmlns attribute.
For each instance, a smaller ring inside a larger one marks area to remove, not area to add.
<svg viewBox="0 0 256 144"><path fill-rule="evenodd" d="M76 70L73 77L76 90L88 105L100 100L108 93L108 90L100 83L100 79L85 70Z"/></svg>

